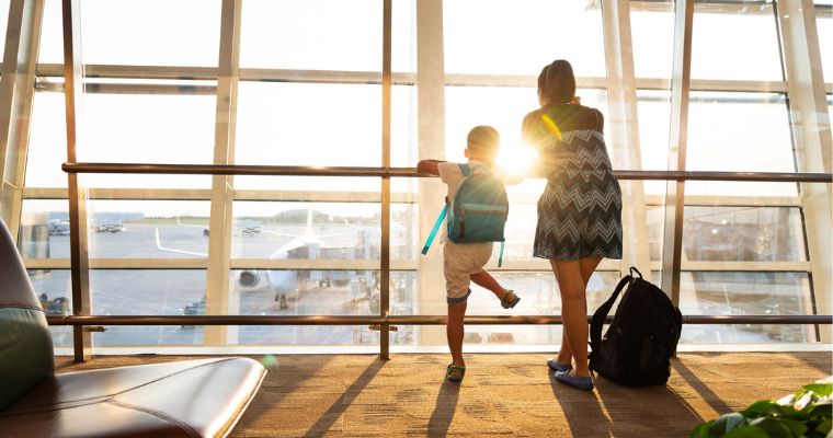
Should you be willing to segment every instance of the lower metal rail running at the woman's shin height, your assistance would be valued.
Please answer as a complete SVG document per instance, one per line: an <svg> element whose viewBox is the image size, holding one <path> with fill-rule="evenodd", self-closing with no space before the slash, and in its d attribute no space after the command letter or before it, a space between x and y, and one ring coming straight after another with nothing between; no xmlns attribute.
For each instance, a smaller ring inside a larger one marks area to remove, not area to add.
<svg viewBox="0 0 833 438"><path fill-rule="evenodd" d="M590 322L592 316L587 316ZM49 325L443 325L445 315L69 315ZM613 321L607 316L606 322ZM466 324L562 324L561 315L476 315ZM684 324L833 324L833 315L683 315Z"/></svg>

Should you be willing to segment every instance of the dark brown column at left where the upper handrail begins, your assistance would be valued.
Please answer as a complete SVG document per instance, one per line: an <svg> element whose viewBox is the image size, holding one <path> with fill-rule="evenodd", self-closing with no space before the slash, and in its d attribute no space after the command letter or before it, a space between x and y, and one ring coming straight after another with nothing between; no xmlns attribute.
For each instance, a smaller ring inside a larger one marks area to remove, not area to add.
<svg viewBox="0 0 833 438"><path fill-rule="evenodd" d="M83 64L81 60L81 2L64 0L64 95L67 116L67 161L82 161L78 145L81 136ZM72 314L89 315L92 309L90 293L90 258L88 254L87 189L83 175L67 175L67 200L69 201L69 258L72 281ZM84 361L92 355L92 338L84 327L72 327L72 346L76 361Z"/></svg>

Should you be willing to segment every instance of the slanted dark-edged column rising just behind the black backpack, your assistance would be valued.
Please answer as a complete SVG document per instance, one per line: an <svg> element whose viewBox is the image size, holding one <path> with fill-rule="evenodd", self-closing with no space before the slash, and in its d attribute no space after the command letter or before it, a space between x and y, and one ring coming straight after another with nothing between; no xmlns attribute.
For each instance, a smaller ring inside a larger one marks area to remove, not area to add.
<svg viewBox="0 0 833 438"><path fill-rule="evenodd" d="M685 170L688 137L688 90L692 73L692 26L694 0L674 3L674 64L671 77L671 126L669 135L669 171ZM680 303L680 268L683 255L683 214L685 183L669 181L665 185L665 220L662 239L662 290Z"/></svg>

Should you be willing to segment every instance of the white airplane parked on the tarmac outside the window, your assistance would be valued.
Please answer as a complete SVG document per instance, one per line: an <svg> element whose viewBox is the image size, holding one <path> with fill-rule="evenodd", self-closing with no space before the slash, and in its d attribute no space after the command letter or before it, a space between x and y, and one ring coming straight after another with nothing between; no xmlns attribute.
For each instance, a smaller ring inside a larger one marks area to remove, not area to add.
<svg viewBox="0 0 833 438"><path fill-rule="evenodd" d="M190 226L181 223L179 220L178 223ZM192 227L204 228L202 226ZM367 230L358 229L329 235L313 234L312 209L309 209L307 212L307 224L303 234L289 234L277 231L267 232L290 239L289 242L284 243L275 250L272 255L270 255L270 260L353 260L370 255L370 241ZM324 240L327 239L350 234L357 235L356 244L330 245L324 243ZM179 250L162 245L158 228L156 229L156 246L160 251L195 255L199 257L208 256L208 254L202 252ZM238 274L236 283L239 287L243 288L243 290L269 288L269 290L275 293L275 302L279 309L288 309L289 304L287 297L308 289L309 283L312 283L317 287L330 287L331 285L344 287L350 285L353 289L354 301L358 301L362 298L372 301L374 290L378 289L378 279L376 279L372 273L367 272L358 274L354 270L246 269ZM373 307L372 302L370 306ZM196 307L194 309L196 309ZM192 313L194 313L194 309L192 309Z"/></svg>

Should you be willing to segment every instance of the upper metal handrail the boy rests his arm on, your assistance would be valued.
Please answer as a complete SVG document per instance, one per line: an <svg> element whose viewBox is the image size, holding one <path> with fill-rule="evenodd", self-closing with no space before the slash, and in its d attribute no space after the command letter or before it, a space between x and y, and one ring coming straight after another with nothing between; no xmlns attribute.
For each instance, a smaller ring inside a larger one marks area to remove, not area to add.
<svg viewBox="0 0 833 438"><path fill-rule="evenodd" d="M414 168L380 166L293 166L255 164L141 164L141 163L64 163L67 173L141 173L186 175L271 175L271 176L430 176ZM788 183L833 183L833 173L807 172L707 172L615 170L620 180L665 181L756 181ZM532 176L539 177L539 176Z"/></svg>

